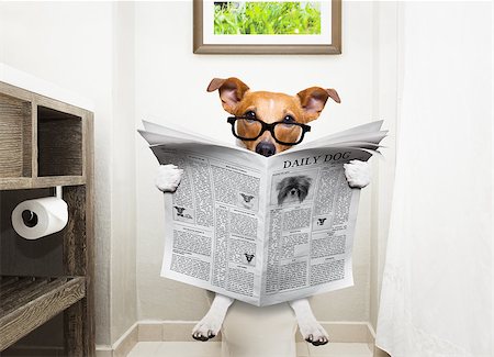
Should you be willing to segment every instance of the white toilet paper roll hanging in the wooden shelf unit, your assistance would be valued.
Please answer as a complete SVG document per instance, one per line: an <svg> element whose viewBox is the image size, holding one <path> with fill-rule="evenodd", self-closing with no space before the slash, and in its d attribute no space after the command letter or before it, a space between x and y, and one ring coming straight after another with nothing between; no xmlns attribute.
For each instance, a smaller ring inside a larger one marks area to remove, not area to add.
<svg viewBox="0 0 494 357"><path fill-rule="evenodd" d="M12 211L12 226L26 239L37 239L61 231L67 221L67 203L56 197L23 201Z"/></svg>

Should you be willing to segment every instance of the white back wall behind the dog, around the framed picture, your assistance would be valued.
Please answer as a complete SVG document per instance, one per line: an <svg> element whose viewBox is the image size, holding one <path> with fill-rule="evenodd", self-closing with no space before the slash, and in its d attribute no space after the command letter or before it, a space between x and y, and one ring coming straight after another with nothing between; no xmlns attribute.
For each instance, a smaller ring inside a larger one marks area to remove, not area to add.
<svg viewBox="0 0 494 357"><path fill-rule="evenodd" d="M328 103L313 124L312 138L375 120L379 80L375 57L375 4L344 2L344 48L340 56L228 56L192 54L192 3L136 3L136 124L151 118L217 138L232 140L217 93L206 93L213 77L236 76L252 90L289 93L311 87L336 88L341 104ZM388 25L388 24L385 24ZM384 68L381 68L384 70ZM392 96L388 97L394 100ZM384 103L385 104L385 103ZM389 114L386 112L386 114ZM394 126L394 116L383 118ZM164 246L162 198L154 187L157 161L144 140L136 142L137 160L137 294L138 317L198 320L206 309L200 289L159 277ZM393 159L379 167L393 166ZM372 191L362 192L353 266L356 286L313 298L323 321L369 321L371 285ZM374 194L374 198L378 196ZM380 231L381 232L381 231ZM374 265L380 263L374 260ZM375 279L374 279L375 280Z"/></svg>

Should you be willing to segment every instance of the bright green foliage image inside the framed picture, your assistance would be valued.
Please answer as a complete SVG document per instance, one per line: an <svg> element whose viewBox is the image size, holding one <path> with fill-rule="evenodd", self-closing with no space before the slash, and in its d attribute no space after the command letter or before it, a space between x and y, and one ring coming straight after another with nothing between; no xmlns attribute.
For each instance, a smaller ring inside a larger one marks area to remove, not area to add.
<svg viewBox="0 0 494 357"><path fill-rule="evenodd" d="M318 35L319 2L215 2L215 35Z"/></svg>

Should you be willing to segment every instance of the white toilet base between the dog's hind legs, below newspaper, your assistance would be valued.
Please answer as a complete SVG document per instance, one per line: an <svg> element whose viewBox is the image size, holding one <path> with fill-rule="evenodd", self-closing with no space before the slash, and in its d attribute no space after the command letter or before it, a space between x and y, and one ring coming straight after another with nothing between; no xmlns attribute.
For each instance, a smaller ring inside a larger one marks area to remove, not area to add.
<svg viewBox="0 0 494 357"><path fill-rule="evenodd" d="M295 357L296 320L290 305L258 308L238 300L222 327L222 357Z"/></svg>

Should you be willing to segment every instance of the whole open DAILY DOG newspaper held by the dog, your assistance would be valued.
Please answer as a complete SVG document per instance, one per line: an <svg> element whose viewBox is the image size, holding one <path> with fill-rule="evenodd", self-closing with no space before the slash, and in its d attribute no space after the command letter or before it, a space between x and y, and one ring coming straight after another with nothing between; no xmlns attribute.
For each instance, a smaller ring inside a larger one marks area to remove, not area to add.
<svg viewBox="0 0 494 357"><path fill-rule="evenodd" d="M158 161L184 170L165 193L162 277L258 306L353 285L360 190L343 165L379 154L382 121L271 157L143 123Z"/></svg>

